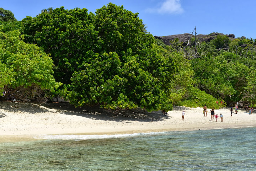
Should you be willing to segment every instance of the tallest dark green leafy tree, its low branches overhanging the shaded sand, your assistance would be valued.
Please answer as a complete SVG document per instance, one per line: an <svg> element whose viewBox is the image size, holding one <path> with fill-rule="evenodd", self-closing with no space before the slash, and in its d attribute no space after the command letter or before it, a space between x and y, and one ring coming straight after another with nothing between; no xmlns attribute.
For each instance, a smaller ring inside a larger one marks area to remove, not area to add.
<svg viewBox="0 0 256 171"><path fill-rule="evenodd" d="M88 51L90 58L73 74L67 89L70 102L107 109L170 110L173 59L157 52L159 47L144 32L138 14L110 3L97 10L95 18L100 49Z"/></svg>

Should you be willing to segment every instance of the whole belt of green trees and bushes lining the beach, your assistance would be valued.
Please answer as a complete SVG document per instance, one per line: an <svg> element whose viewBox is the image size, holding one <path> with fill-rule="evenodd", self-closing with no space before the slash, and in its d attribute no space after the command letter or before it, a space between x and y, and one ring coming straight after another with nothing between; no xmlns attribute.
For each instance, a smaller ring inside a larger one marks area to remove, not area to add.
<svg viewBox="0 0 256 171"><path fill-rule="evenodd" d="M1 100L61 95L75 106L148 111L255 103L255 40L191 42L166 46L137 13L111 3L95 14L60 7L21 22L0 20Z"/></svg>

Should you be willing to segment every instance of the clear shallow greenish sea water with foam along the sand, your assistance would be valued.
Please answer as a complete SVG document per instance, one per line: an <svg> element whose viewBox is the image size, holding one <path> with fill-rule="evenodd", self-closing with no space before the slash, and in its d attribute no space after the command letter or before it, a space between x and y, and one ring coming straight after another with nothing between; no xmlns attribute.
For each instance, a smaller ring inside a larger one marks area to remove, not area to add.
<svg viewBox="0 0 256 171"><path fill-rule="evenodd" d="M0 143L0 170L256 170L256 128L35 138Z"/></svg>

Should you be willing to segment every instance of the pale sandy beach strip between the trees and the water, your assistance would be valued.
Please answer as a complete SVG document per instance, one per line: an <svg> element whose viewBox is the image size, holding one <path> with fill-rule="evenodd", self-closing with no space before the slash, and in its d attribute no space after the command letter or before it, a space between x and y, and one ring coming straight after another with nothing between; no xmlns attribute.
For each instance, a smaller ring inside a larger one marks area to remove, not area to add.
<svg viewBox="0 0 256 171"><path fill-rule="evenodd" d="M184 121L181 112L185 111ZM210 111L210 109L208 109ZM175 130L221 129L256 126L256 114L244 109L230 117L229 109L215 110L223 122L210 121L203 108L174 107L167 116L158 112L136 111L113 114L99 108L74 108L66 103L0 103L0 142L36 140L35 135L103 135Z"/></svg>

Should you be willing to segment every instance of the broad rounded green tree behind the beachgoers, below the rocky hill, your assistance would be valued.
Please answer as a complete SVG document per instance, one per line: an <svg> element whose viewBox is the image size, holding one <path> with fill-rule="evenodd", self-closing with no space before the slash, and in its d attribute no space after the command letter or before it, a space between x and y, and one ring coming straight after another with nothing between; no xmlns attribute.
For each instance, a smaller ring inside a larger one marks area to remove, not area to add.
<svg viewBox="0 0 256 171"><path fill-rule="evenodd" d="M249 67L237 60L238 55L225 52L217 57L191 60L196 85L200 90L225 101L239 101L248 85Z"/></svg>

